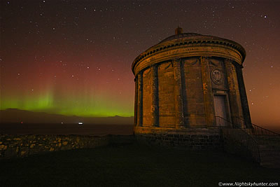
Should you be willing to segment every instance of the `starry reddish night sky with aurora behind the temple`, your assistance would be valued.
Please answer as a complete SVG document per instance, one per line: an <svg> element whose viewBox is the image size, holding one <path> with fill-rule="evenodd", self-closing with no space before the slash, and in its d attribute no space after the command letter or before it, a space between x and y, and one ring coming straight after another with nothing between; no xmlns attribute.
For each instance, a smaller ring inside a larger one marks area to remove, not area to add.
<svg viewBox="0 0 280 187"><path fill-rule="evenodd" d="M253 123L280 125L280 1L3 1L1 109L133 116L135 57L174 34L246 49Z"/></svg>

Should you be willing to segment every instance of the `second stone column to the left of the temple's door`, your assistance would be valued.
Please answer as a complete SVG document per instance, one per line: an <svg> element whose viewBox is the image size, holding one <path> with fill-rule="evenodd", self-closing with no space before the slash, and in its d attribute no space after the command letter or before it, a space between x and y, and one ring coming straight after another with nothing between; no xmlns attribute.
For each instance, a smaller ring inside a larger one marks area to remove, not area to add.
<svg viewBox="0 0 280 187"><path fill-rule="evenodd" d="M181 78L181 60L176 59L174 64L174 95L175 95L175 125L176 128L183 127L184 115L183 115L183 92L182 92L182 78Z"/></svg>

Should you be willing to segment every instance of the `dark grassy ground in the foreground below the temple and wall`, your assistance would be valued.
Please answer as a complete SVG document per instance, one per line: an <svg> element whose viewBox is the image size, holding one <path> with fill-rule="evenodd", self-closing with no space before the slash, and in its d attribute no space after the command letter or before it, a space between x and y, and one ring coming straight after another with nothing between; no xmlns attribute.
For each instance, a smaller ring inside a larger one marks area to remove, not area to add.
<svg viewBox="0 0 280 187"><path fill-rule="evenodd" d="M266 169L223 152L108 146L0 160L0 186L218 186L279 182Z"/></svg>

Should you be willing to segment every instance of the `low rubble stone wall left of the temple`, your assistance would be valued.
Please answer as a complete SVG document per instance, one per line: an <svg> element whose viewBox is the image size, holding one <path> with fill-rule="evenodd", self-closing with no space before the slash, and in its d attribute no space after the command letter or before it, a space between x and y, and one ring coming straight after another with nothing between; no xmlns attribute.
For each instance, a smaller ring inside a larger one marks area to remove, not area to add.
<svg viewBox="0 0 280 187"><path fill-rule="evenodd" d="M0 135L0 158L24 157L43 152L106 146L110 136Z"/></svg>

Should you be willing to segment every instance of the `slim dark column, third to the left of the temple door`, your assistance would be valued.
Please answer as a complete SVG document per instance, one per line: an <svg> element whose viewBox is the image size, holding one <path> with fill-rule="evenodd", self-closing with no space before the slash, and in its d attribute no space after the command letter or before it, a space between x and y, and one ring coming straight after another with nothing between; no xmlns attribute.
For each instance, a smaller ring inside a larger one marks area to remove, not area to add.
<svg viewBox="0 0 280 187"><path fill-rule="evenodd" d="M158 127L159 125L159 112L158 112L158 65L155 64L151 67L151 95L152 95L152 126Z"/></svg>

